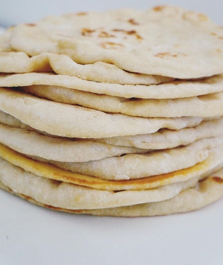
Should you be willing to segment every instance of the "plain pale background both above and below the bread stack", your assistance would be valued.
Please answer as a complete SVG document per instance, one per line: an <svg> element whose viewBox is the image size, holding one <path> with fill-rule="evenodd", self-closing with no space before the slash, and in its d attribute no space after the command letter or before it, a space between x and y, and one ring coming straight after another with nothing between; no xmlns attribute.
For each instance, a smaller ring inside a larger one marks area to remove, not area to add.
<svg viewBox="0 0 223 265"><path fill-rule="evenodd" d="M0 25L158 4L181 5L223 24L222 0L0 0ZM222 265L222 203L166 217L110 218L58 213L0 191L0 264Z"/></svg>

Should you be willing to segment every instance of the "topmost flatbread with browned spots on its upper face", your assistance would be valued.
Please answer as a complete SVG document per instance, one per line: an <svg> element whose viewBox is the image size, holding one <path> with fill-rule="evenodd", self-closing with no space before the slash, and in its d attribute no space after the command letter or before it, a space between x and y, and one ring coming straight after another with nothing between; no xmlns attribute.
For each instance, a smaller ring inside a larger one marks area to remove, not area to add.
<svg viewBox="0 0 223 265"><path fill-rule="evenodd" d="M179 7L48 16L17 25L16 51L67 54L76 63L113 63L135 73L198 78L222 73L223 29Z"/></svg>

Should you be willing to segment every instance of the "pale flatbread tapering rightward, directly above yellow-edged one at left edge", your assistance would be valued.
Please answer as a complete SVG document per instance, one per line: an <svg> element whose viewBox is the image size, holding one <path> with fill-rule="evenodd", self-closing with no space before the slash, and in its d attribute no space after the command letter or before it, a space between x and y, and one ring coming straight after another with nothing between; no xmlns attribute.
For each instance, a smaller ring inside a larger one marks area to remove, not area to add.
<svg viewBox="0 0 223 265"><path fill-rule="evenodd" d="M146 149L134 147L55 138L4 124L0 124L0 142L26 155L40 156L61 162L85 162L109 156L148 152Z"/></svg>

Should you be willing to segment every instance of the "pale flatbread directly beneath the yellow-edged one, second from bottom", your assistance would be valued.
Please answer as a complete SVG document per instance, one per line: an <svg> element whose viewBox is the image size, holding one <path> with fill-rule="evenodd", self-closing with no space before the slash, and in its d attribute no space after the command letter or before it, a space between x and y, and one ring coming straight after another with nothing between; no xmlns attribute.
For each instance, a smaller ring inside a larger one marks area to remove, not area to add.
<svg viewBox="0 0 223 265"><path fill-rule="evenodd" d="M154 202L174 197L194 186L199 176L185 182L141 191L103 191L71 183L55 181L26 172L0 158L0 181L14 192L36 200L70 209L94 209ZM4 188L0 184L0 188Z"/></svg>

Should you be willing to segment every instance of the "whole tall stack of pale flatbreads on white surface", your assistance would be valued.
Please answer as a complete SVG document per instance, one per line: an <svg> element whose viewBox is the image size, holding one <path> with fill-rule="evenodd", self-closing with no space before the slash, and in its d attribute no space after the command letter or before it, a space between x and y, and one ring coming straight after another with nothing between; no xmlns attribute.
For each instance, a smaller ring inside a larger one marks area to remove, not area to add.
<svg viewBox="0 0 223 265"><path fill-rule="evenodd" d="M0 187L72 213L223 196L223 28L178 7L49 16L0 37Z"/></svg>

